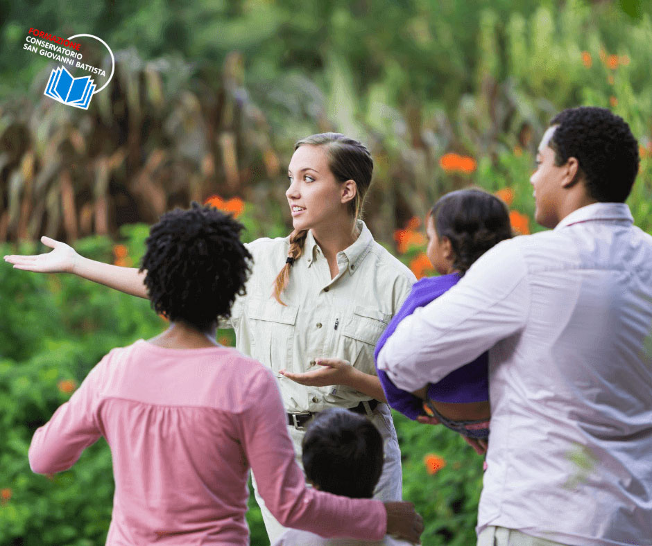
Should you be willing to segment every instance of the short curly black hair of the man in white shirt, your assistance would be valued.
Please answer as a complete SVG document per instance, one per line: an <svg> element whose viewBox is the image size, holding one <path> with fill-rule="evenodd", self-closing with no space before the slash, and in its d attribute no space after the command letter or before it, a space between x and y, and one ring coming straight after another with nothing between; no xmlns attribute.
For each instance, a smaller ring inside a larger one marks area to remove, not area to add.
<svg viewBox="0 0 652 546"><path fill-rule="evenodd" d="M551 119L557 125L549 146L555 164L577 159L587 193L604 203L624 203L638 173L638 142L629 125L606 108L568 108Z"/></svg>

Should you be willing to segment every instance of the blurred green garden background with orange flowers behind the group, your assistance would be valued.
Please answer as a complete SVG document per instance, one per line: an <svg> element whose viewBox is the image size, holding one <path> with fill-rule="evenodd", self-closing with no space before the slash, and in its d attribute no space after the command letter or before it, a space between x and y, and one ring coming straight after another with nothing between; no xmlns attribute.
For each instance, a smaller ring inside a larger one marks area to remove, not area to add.
<svg viewBox="0 0 652 546"><path fill-rule="evenodd" d="M53 65L22 50L30 27L112 46L115 76L87 111L43 96ZM135 266L148 224L191 200L237 215L246 240L285 236L293 144L336 130L372 150L372 233L431 275L423 220L447 191L481 186L510 206L517 232L542 229L535 149L551 116L579 104L612 109L639 139L628 204L652 232L652 6L642 1L0 0L0 51L3 254L44 252L37 239L48 235ZM147 301L7 265L0 308L0 545L102 543L105 442L52 477L31 473L28 443L101 356L166 323ZM232 344L232 332L218 340ZM482 459L445 428L395 422L423 544L474 543ZM251 506L252 544L264 544Z"/></svg>

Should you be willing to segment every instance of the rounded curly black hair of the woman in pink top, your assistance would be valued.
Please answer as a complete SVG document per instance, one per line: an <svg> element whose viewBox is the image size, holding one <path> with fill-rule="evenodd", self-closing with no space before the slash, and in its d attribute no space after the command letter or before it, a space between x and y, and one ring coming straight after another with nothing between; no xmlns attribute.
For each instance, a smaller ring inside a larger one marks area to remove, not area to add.
<svg viewBox="0 0 652 546"><path fill-rule="evenodd" d="M237 294L246 294L252 256L240 241L243 225L217 209L164 213L151 227L139 271L153 310L171 322L205 332L231 315Z"/></svg>

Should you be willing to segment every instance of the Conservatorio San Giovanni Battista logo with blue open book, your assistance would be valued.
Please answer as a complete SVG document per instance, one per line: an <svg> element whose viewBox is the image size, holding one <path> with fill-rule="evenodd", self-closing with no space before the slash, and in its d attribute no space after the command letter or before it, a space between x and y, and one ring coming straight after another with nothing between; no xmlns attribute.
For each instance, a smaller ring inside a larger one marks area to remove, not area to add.
<svg viewBox="0 0 652 546"><path fill-rule="evenodd" d="M82 62L83 55L79 53L80 44L74 42L75 38L87 37L96 39L111 55L111 73L102 87L97 89L97 85L91 76L73 76L71 70L81 69L82 71L91 72L100 78L106 77L104 69L94 67ZM92 34L76 34L67 39L45 33L37 28L30 28L23 49L38 53L46 58L51 58L56 62L61 62L61 66L53 69L45 86L43 94L49 98L57 100L59 103L82 108L87 110L94 94L104 89L113 78L115 71L115 57L108 44L101 38Z"/></svg>

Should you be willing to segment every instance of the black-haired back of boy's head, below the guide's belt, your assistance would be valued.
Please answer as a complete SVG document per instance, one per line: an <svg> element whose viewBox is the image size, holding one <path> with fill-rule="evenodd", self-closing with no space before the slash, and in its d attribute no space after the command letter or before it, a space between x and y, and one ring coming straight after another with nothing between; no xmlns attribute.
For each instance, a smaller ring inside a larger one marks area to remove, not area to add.
<svg viewBox="0 0 652 546"><path fill-rule="evenodd" d="M307 479L320 491L371 498L383 470L383 440L366 417L329 408L311 421L302 461Z"/></svg>

